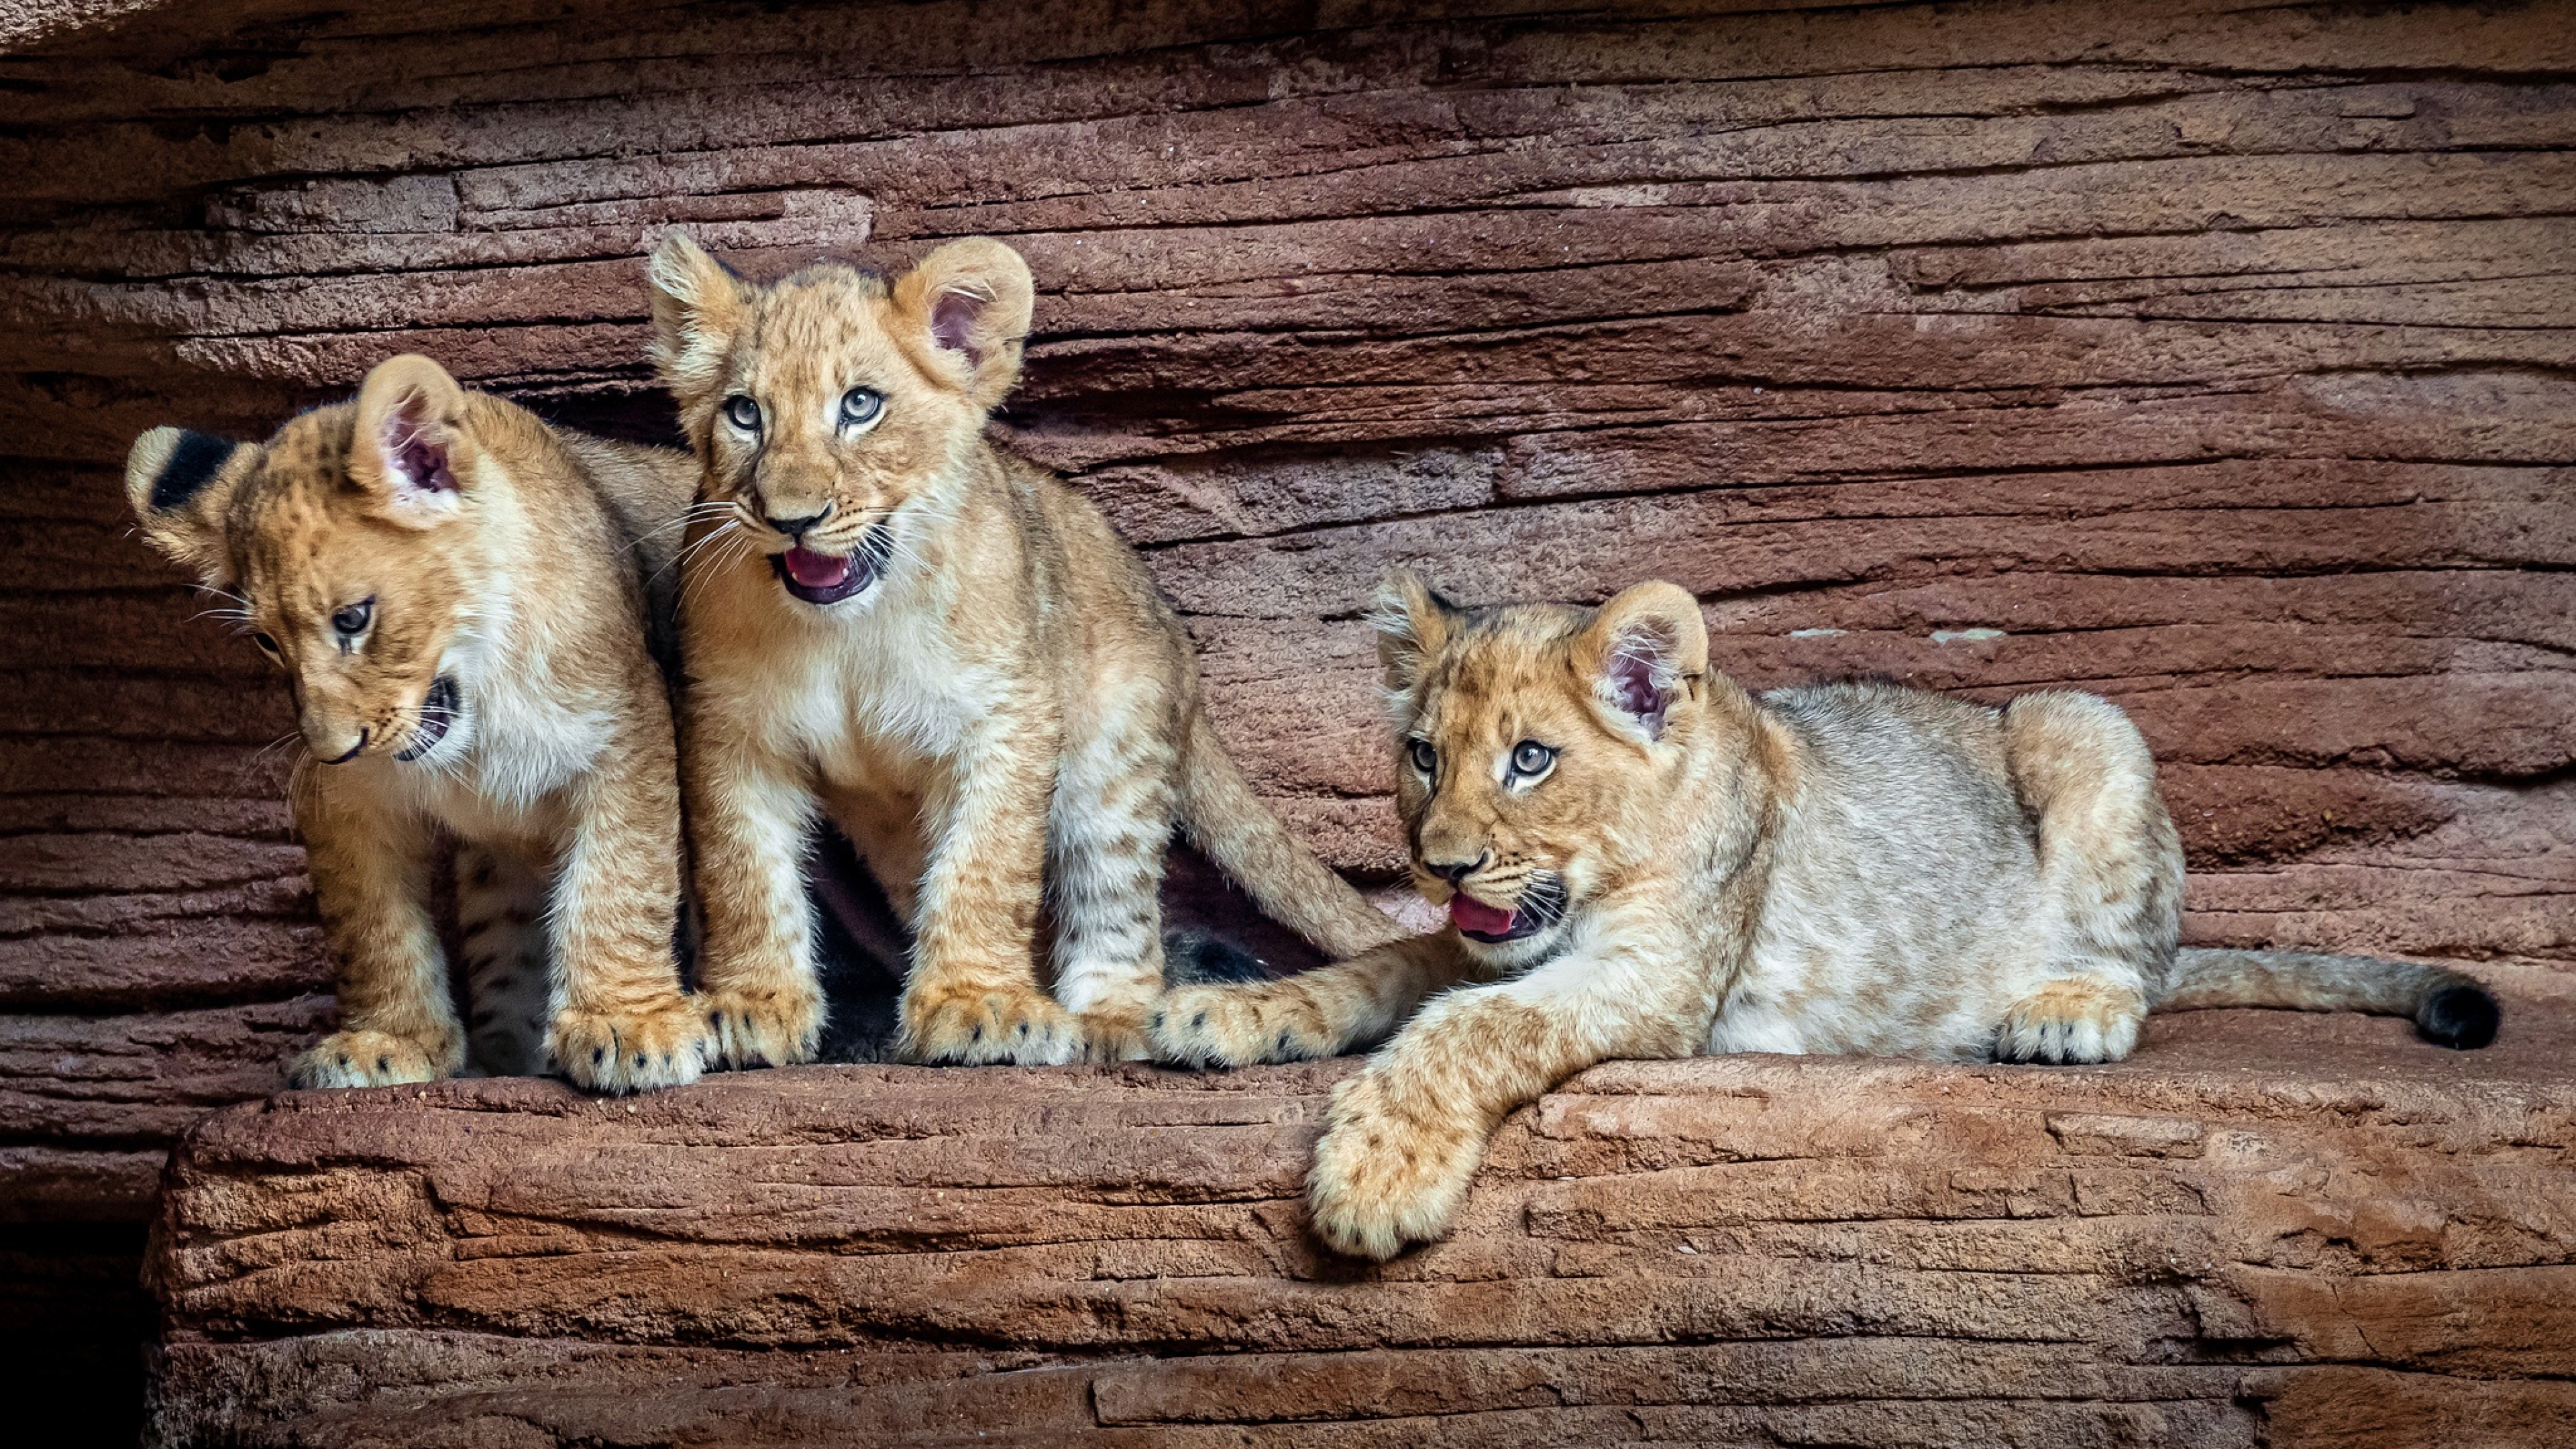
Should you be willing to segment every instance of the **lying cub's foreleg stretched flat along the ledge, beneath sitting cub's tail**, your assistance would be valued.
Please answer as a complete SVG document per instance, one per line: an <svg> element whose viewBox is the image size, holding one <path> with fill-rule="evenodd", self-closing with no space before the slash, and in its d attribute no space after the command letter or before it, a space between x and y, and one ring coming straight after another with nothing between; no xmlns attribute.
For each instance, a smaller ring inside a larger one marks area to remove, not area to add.
<svg viewBox="0 0 2576 1449"><path fill-rule="evenodd" d="M1340 1057L1386 1039L1422 998L1473 975L1445 931L1273 982L1185 985L1151 1016L1154 1055L1190 1067Z"/></svg>

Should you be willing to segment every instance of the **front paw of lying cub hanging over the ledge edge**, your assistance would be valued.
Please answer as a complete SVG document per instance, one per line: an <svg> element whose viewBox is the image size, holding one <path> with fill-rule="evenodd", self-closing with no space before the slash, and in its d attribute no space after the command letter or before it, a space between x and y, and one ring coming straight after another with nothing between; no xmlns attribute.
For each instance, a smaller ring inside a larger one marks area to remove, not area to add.
<svg viewBox="0 0 2576 1449"><path fill-rule="evenodd" d="M1316 1238L1352 1258L1440 1238L1484 1160L1481 1124L1437 1106L1396 1111L1376 1067L1332 1091L1324 1122L1306 1204Z"/></svg>

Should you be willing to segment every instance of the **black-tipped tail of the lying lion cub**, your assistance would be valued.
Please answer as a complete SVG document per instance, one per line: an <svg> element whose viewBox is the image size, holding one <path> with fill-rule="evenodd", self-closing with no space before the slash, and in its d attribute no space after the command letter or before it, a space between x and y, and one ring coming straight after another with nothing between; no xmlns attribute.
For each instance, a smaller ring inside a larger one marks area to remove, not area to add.
<svg viewBox="0 0 2576 1449"><path fill-rule="evenodd" d="M2174 985L2156 1011L2202 1006L2411 1016L2419 1036L2460 1052L2494 1042L2504 1018L2483 985L2442 967L2313 951L2184 946L2174 954Z"/></svg>

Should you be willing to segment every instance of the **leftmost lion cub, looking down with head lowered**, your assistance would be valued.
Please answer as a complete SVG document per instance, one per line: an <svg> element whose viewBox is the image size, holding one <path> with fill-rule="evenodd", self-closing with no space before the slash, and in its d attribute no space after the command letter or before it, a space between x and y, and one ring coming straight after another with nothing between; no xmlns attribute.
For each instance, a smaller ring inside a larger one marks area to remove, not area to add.
<svg viewBox="0 0 2576 1449"><path fill-rule="evenodd" d="M688 454L549 428L389 358L268 443L152 428L144 536L240 601L312 761L296 830L340 959L340 1031L296 1085L466 1065L430 918L456 853L474 1065L636 1091L698 1075L680 993L680 797L636 544L677 529ZM667 554L667 549L665 549ZM551 962L551 967L549 967Z"/></svg>

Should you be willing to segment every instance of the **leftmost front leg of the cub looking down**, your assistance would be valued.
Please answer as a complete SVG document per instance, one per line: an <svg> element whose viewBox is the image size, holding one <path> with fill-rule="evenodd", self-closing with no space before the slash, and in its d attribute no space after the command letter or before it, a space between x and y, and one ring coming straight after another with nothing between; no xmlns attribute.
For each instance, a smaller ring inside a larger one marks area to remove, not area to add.
<svg viewBox="0 0 2576 1449"><path fill-rule="evenodd" d="M340 962L340 1029L296 1057L286 1080L353 1088L456 1075L466 1034L430 920L430 833L363 784L319 771L296 784L296 828Z"/></svg>

